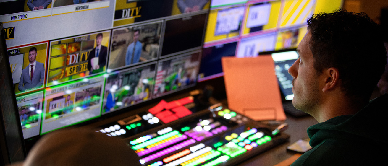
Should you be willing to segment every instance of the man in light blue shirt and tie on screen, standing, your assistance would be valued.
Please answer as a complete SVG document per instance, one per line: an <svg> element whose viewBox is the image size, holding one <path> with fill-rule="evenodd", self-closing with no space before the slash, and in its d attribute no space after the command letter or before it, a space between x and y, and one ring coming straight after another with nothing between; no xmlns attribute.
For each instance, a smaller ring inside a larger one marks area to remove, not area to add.
<svg viewBox="0 0 388 166"><path fill-rule="evenodd" d="M139 62L142 53L142 43L139 41L140 30L133 30L133 42L128 45L125 54L125 66Z"/></svg>

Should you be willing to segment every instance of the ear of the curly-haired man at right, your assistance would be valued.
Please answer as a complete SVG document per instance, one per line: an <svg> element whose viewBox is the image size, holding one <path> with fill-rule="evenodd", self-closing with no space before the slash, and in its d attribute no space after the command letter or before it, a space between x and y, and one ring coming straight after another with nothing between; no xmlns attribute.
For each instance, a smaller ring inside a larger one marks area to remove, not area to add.
<svg viewBox="0 0 388 166"><path fill-rule="evenodd" d="M324 69L323 73L325 84L322 88L323 92L327 92L329 90L333 90L336 86L339 85L340 82L340 73L337 68L330 67L328 69Z"/></svg>

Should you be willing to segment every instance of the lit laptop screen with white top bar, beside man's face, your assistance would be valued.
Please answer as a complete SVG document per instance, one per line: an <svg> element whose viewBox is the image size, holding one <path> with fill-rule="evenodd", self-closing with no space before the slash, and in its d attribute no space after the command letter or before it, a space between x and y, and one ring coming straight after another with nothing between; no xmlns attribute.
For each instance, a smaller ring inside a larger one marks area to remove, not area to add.
<svg viewBox="0 0 388 166"><path fill-rule="evenodd" d="M292 76L288 74L288 68L298 59L298 53L296 50L272 53L272 59L275 62L275 74L279 83L280 90L282 91L286 100L292 100L294 94L292 88Z"/></svg>

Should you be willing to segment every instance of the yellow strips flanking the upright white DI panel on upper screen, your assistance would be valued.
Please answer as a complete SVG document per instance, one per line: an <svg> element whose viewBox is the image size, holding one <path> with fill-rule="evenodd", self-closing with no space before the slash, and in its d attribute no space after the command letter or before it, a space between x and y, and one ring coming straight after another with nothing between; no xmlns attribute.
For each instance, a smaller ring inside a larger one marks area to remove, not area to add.
<svg viewBox="0 0 388 166"><path fill-rule="evenodd" d="M279 20L279 11L281 7L281 0L277 1L272 1L270 2L271 4L271 11L269 14L269 19L268 19L268 24L263 26L262 30L270 30L274 29L277 26L277 21ZM249 9L253 6L254 4L249 5ZM248 16L249 9L246 10L245 16ZM244 31L243 35L248 34L249 31L251 31L251 28L246 28L246 22L247 22L248 17L245 18L245 25L244 25Z"/></svg>

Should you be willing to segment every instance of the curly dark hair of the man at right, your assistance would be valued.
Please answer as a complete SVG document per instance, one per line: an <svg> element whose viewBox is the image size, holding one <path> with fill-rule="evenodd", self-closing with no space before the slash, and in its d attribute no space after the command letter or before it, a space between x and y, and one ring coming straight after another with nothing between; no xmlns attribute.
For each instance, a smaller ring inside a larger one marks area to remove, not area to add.
<svg viewBox="0 0 388 166"><path fill-rule="evenodd" d="M338 69L345 95L353 102L368 102L387 58L379 24L363 12L338 9L314 14L307 25L317 74L329 67Z"/></svg>

